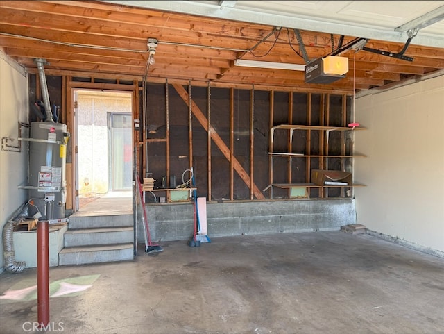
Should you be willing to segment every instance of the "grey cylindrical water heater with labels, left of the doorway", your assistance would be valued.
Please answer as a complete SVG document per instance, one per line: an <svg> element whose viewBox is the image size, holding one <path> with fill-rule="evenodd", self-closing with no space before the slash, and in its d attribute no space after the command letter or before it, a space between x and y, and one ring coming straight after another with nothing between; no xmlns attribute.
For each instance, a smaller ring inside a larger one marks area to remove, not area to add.
<svg viewBox="0 0 444 334"><path fill-rule="evenodd" d="M31 123L28 200L40 211L40 220L65 218L68 139L66 124Z"/></svg>

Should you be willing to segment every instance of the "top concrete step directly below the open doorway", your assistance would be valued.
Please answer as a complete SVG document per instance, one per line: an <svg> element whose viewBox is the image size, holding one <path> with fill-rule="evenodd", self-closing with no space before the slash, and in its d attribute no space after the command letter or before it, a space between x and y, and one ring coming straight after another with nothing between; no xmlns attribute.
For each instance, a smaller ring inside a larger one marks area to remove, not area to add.
<svg viewBox="0 0 444 334"><path fill-rule="evenodd" d="M133 226L133 214L130 215L94 215L82 216L71 215L69 217L69 228L100 228L114 226Z"/></svg>

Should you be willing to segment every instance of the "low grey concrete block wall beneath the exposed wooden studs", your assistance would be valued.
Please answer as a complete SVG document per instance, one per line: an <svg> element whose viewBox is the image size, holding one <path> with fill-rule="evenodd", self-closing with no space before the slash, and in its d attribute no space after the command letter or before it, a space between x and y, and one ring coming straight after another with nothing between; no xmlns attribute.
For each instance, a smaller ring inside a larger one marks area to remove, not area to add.
<svg viewBox="0 0 444 334"><path fill-rule="evenodd" d="M152 203L146 205L146 210L153 241L191 238L194 203ZM144 242L141 212L137 212L137 216L137 240ZM355 199L207 203L207 230L210 238L335 231L355 222Z"/></svg>

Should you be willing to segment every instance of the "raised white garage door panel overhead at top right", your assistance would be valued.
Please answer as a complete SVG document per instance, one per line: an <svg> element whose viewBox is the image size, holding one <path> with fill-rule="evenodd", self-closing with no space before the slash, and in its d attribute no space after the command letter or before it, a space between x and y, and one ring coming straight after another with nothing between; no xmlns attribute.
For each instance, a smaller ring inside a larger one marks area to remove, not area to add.
<svg viewBox="0 0 444 334"><path fill-rule="evenodd" d="M105 1L135 7L298 28L370 40L405 42L395 28L433 10L444 1ZM444 20L422 28L412 44L444 47Z"/></svg>

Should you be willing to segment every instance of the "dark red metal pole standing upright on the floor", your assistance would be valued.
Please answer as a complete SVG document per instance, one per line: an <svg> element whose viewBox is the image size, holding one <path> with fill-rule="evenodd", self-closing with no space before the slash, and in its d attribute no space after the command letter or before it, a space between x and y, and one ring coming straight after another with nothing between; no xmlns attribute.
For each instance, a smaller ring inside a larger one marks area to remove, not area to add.
<svg viewBox="0 0 444 334"><path fill-rule="evenodd" d="M37 222L37 319L49 324L49 222Z"/></svg>

